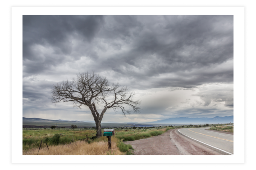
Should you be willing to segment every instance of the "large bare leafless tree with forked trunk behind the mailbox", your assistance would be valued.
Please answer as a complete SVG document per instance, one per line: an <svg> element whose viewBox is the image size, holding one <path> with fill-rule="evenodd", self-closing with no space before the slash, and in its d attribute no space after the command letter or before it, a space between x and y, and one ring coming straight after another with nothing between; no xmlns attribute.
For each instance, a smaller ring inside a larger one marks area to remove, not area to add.
<svg viewBox="0 0 256 170"><path fill-rule="evenodd" d="M102 136L101 121L107 109L120 109L124 115L140 112L140 101L134 100L134 95L128 88L120 87L118 83L109 85L106 77L88 72L77 74L76 79L57 83L52 88L53 103L73 102L73 106L81 108L85 105L90 109L96 123L97 137ZM95 103L104 104L101 113L97 111Z"/></svg>

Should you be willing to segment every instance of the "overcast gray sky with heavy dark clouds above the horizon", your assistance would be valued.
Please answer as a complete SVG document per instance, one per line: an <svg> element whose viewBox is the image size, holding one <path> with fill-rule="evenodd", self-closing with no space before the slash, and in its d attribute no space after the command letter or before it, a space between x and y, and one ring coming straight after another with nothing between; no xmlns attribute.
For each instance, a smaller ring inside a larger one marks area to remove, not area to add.
<svg viewBox="0 0 256 170"><path fill-rule="evenodd" d="M53 84L87 71L141 100L141 113L108 109L102 122L231 116L233 16L23 15L24 117L93 120L51 102Z"/></svg>

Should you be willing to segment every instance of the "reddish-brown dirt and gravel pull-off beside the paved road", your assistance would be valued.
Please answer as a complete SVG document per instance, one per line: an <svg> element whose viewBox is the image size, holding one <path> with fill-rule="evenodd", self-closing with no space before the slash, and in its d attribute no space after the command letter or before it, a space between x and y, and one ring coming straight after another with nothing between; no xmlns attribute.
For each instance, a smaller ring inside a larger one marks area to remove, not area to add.
<svg viewBox="0 0 256 170"><path fill-rule="evenodd" d="M134 155L221 155L180 135L177 129L171 129L162 135L147 139L124 142L131 144Z"/></svg>

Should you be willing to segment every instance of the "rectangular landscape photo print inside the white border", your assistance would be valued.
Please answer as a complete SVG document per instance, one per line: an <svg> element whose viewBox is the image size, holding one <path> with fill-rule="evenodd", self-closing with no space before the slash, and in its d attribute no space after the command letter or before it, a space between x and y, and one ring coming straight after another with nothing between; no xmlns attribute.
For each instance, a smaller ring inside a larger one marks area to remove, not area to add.
<svg viewBox="0 0 256 170"><path fill-rule="evenodd" d="M233 15L23 15L23 155L233 155Z"/></svg>

